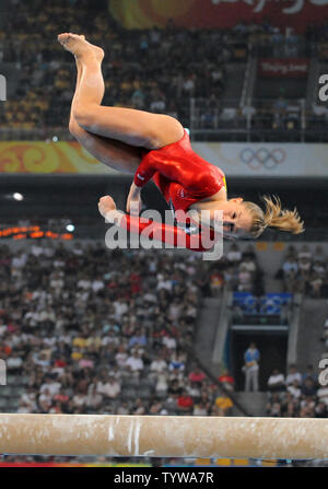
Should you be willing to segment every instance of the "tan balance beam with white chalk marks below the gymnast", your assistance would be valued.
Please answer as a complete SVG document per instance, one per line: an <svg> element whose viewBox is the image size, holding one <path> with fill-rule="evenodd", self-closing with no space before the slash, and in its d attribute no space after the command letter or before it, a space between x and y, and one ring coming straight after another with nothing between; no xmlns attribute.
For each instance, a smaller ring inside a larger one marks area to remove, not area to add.
<svg viewBox="0 0 328 489"><path fill-rule="evenodd" d="M328 419L0 414L0 453L328 458Z"/></svg>

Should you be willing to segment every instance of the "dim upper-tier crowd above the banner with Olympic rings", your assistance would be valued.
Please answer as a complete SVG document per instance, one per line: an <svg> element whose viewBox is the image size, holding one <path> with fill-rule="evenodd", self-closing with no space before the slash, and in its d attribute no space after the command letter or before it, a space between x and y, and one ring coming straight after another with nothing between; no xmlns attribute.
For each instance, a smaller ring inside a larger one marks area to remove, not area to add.
<svg viewBox="0 0 328 489"><path fill-rule="evenodd" d="M309 25L303 37L292 32L285 36L269 19L262 24L239 22L230 31L186 30L174 21L165 30L126 31L110 18L106 2L90 5L83 0L77 9L74 1L67 0L56 4L34 0L28 5L12 1L0 25L0 63L12 63L16 70L10 84L14 93L0 106L0 123L7 129L37 129L46 135L48 128L67 128L75 68L56 40L60 32L83 33L105 49L105 105L169 114L190 127L190 100L203 98L192 123L198 128L231 127L232 120L234 127L244 127L254 118L257 129L267 128L268 120L271 129L279 129L285 119L293 129L295 120L290 121L288 114L282 117L277 101L268 101L260 110L255 106L239 109L233 101L231 108L224 108L222 95L232 81L226 66L245 62L249 53L308 56L311 43L317 43L323 54L327 44L325 22ZM290 103L284 104L288 113Z"/></svg>

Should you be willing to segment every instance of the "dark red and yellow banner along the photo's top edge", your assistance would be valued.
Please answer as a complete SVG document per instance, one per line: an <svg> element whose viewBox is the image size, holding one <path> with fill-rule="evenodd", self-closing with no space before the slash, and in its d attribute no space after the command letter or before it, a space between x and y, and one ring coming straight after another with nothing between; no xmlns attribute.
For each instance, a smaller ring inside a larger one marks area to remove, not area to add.
<svg viewBox="0 0 328 489"><path fill-rule="evenodd" d="M161 28L169 20L184 27L232 28L241 19L262 24L270 18L273 25L297 33L306 31L309 19L320 23L327 4L328 0L108 0L110 14L126 28Z"/></svg>

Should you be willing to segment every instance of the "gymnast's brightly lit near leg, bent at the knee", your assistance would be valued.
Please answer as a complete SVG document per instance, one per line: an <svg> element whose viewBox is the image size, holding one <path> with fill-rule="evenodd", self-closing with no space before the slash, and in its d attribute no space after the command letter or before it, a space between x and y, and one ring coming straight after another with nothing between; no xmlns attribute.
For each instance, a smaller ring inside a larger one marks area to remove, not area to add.
<svg viewBox="0 0 328 489"><path fill-rule="evenodd" d="M73 108L73 116L82 128L98 136L149 150L181 139L184 128L174 117L131 108L102 106L103 49L77 34L60 34L58 40L79 59L82 66L79 95Z"/></svg>

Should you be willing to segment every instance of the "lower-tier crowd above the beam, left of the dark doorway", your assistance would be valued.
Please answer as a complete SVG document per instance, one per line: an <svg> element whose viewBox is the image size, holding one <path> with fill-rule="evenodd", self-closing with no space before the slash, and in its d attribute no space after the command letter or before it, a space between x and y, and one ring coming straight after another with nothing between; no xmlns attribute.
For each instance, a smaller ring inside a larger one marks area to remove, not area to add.
<svg viewBox="0 0 328 489"><path fill-rule="evenodd" d="M2 246L0 273L0 354L27 387L20 399L1 391L14 410L220 411L187 352L211 275L197 255L36 242Z"/></svg>

